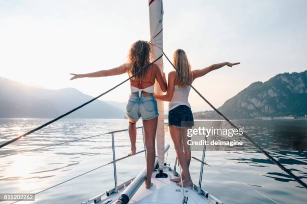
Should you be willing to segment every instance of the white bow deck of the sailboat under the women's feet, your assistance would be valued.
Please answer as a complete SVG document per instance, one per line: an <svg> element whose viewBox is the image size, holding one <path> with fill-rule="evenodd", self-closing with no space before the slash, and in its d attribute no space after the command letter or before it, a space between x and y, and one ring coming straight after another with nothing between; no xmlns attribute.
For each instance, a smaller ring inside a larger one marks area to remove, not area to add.
<svg viewBox="0 0 307 204"><path fill-rule="evenodd" d="M170 148L167 144L164 148L166 153ZM123 182L114 188L107 190L97 196L90 198L81 204L178 204L178 203L210 203L210 204L222 204L219 199L204 191L200 186L193 185L191 187L180 187L175 182L172 182L170 178L178 178L179 174L176 171L177 162L175 161L174 168L170 164L163 166L163 171L168 175L167 178L157 178L156 175L158 169L160 169L158 158L155 161L155 170L152 173L152 183L154 184L151 188L145 188L144 180L146 176L146 168L142 169L136 177ZM116 168L114 168L116 173ZM199 175L202 179L202 174ZM114 177L116 178L116 177ZM116 183L116 182L115 182ZM185 197L188 202L184 202Z"/></svg>

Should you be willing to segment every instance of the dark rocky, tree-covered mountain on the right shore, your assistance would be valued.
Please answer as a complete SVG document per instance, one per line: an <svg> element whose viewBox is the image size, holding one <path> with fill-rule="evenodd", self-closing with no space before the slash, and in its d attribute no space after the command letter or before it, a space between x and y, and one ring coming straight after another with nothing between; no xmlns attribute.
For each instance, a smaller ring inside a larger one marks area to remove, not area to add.
<svg viewBox="0 0 307 204"><path fill-rule="evenodd" d="M280 73L254 82L218 108L229 118L304 116L307 113L307 70ZM220 118L214 111L194 113L196 119Z"/></svg>

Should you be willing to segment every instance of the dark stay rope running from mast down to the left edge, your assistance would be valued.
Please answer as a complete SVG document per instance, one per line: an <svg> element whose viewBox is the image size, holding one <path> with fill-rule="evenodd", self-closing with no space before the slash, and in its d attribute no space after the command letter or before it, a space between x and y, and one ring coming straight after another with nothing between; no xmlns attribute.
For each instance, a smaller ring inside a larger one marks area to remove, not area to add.
<svg viewBox="0 0 307 204"><path fill-rule="evenodd" d="M153 63L155 63L156 61L158 61L162 56L163 56L163 54L162 54L161 56L159 56L157 59L155 59L154 61L152 61L151 63L149 63L149 64L147 64L147 65L144 65L144 66L141 68L141 70L139 70L138 72L134 73L132 76L130 76L129 78L127 78L127 79L123 80L122 82L118 83L117 85L115 85L114 87L110 88L109 90L105 91L104 93L101 93L100 95L98 95L98 96L92 98L91 100L89 100L89 101L83 103L82 105L79 105L78 107L76 107L76 108L74 108L74 109L72 109L72 110L70 110L70 111L68 111L68 112L66 112L66 113L64 113L64 114L62 114L62 115L60 115L60 116L58 116L57 118L54 118L53 120L50 120L49 122L46 122L45 124L43 124L43 125L41 125L41 126L39 126L39 127L36 127L36 128L34 128L34 129L32 129L32 130L30 130L30 131L28 131L28 132L26 132L26 133L24 133L24 134L18 136L18 137L15 137L14 139L11 139L10 141L7 141L7 142L1 144L1 145L0 145L0 148L2 148L2 147L6 146L6 145L8 145L8 144L10 144L10 143L12 143L12 142L14 142L14 141L17 141L18 139L20 139L20 138L22 138L22 137L24 137L24 136L27 136L27 135L29 135L29 134L31 134L31 133L33 133L33 132L35 132L35 131L37 131L37 130L39 130L39 129L41 129L41 128L43 128L43 127L45 127L45 126L47 126L47 125L49 125L49 124L51 124L51 123L53 123L53 122L55 122L55 121L57 121L57 120L59 120L59 119L61 119L62 117L65 117L66 115L69 115L70 113L72 113L72 112L74 112L74 111L80 109L81 107L83 107L83 106L85 106L85 105L87 105L87 104L93 102L94 100L98 99L98 98L101 97L102 95L104 95L104 94L110 92L111 90L117 88L118 86L120 86L120 85L123 84L124 82L130 80L130 78L132 78L132 77L136 76L137 74L139 74L140 72L144 71L144 70L145 70L146 68L148 68L151 64L153 64Z"/></svg>

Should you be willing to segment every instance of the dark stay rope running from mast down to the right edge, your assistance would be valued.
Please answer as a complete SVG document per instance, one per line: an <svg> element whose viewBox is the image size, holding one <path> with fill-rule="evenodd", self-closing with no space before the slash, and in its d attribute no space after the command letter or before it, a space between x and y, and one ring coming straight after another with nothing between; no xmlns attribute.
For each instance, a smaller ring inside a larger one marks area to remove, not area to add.
<svg viewBox="0 0 307 204"><path fill-rule="evenodd" d="M214 107L193 85L192 83L175 67L175 65L171 62L169 57L162 51L164 56L168 59L168 61L172 64L172 66L176 69L176 71L185 79L185 81L197 92L197 94L203 98L220 116L222 116L233 128L239 130L239 128L233 124L225 115L223 115L216 107ZM267 151L261 148L254 140L252 140L249 136L247 136L244 132L242 134L250 143L252 143L259 151L261 151L266 157L268 157L273 163L275 163L279 168L281 168L284 172L289 174L294 180L296 180L303 187L307 188L307 184L303 182L298 176L294 175L289 169L284 167L281 163L279 163L275 158L273 158Z"/></svg>

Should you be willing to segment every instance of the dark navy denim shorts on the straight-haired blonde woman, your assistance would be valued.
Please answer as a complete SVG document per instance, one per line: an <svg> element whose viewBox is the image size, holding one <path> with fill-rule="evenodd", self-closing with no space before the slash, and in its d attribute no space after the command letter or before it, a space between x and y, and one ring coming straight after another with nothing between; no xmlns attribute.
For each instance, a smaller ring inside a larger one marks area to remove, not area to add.
<svg viewBox="0 0 307 204"><path fill-rule="evenodd" d="M169 126L192 127L194 118L192 110L187 105L179 105L169 111Z"/></svg>

